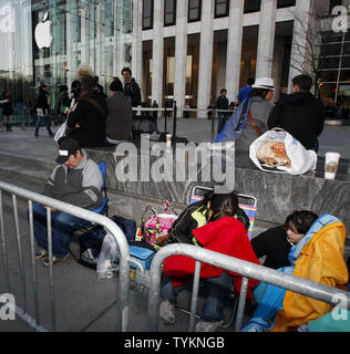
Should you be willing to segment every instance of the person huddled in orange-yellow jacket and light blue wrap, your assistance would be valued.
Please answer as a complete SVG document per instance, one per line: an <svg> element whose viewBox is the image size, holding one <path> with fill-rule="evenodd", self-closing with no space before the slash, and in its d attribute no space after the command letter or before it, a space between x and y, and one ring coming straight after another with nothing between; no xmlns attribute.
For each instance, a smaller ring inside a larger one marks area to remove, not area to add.
<svg viewBox="0 0 350 354"><path fill-rule="evenodd" d="M343 258L344 225L333 216L322 215L305 236L294 233L295 246L289 253L291 266L280 271L346 290L349 273ZM264 289L264 284L255 289L255 298L260 293L259 305L243 332L297 331L332 310L328 303L270 284Z"/></svg>

